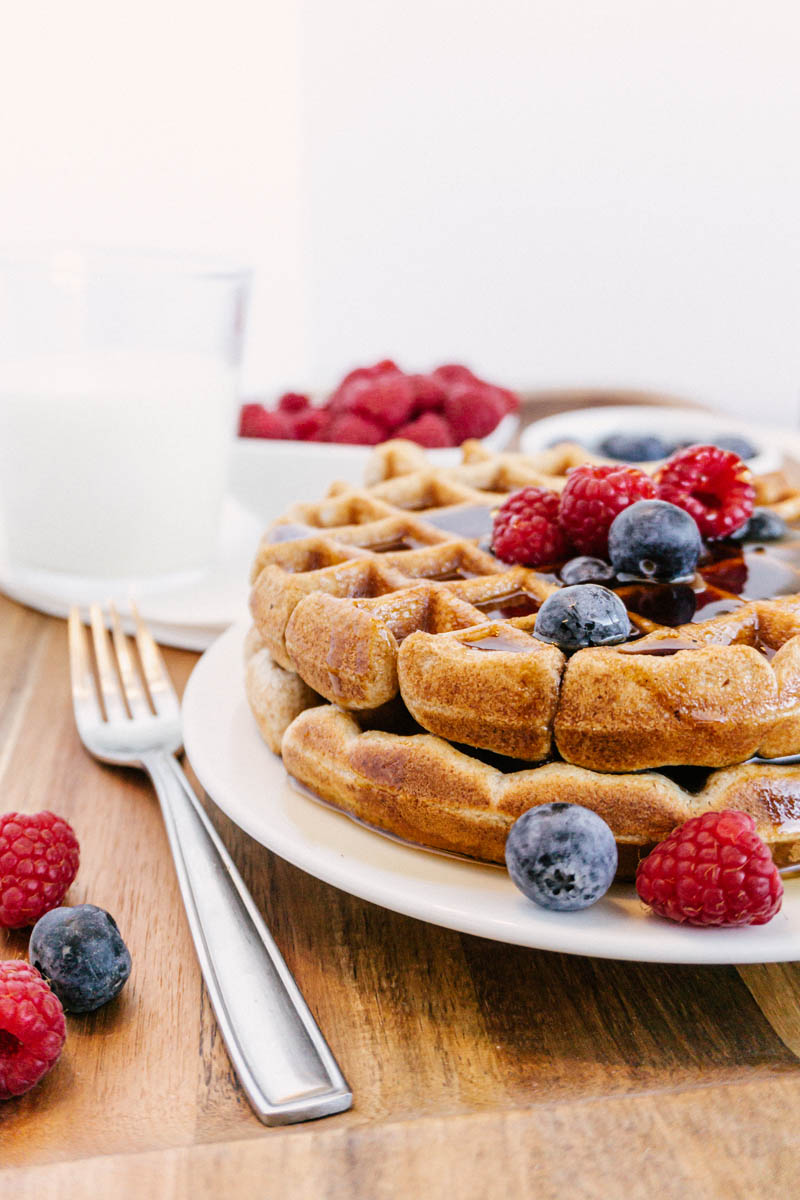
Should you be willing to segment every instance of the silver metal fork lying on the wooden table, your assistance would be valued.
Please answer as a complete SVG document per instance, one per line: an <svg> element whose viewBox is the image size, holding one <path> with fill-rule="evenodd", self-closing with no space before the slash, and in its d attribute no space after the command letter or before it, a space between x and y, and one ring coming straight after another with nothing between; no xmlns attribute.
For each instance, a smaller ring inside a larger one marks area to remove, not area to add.
<svg viewBox="0 0 800 1200"><path fill-rule="evenodd" d="M72 702L85 748L102 762L150 775L205 985L236 1075L265 1124L343 1112L350 1088L230 854L175 758L182 748L178 696L149 630L134 612L140 678L116 610L109 640L90 608L91 652L70 612ZM146 683L146 689L144 684ZM104 710L104 712L103 712Z"/></svg>

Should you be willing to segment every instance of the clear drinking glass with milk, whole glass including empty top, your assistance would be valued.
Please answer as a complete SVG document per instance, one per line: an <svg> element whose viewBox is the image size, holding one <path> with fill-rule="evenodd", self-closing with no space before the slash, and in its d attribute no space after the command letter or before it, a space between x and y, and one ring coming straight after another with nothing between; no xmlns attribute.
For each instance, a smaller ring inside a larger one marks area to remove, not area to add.
<svg viewBox="0 0 800 1200"><path fill-rule="evenodd" d="M167 254L0 254L7 564L163 584L211 562L248 283Z"/></svg>

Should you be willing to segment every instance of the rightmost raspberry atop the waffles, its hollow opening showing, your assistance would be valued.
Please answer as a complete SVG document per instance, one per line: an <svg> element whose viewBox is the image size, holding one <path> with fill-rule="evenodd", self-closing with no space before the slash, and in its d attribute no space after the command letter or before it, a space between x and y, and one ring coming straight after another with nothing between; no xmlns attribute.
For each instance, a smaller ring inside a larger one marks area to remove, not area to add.
<svg viewBox="0 0 800 1200"><path fill-rule="evenodd" d="M756 492L750 470L732 450L688 446L656 475L658 496L694 517L704 538L728 538L748 521Z"/></svg>

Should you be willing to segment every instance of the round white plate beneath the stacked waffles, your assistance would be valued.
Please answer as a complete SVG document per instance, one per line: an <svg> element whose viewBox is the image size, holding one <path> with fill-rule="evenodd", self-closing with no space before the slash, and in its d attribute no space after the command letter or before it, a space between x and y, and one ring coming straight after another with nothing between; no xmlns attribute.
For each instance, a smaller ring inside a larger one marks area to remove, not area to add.
<svg viewBox="0 0 800 1200"><path fill-rule="evenodd" d="M751 929L685 929L648 914L632 887L594 908L552 913L506 872L381 836L299 792L261 742L242 683L247 625L209 649L184 697L184 738L209 796L252 838L333 887L447 929L500 942L643 962L784 962L800 959L800 880L781 912Z"/></svg>

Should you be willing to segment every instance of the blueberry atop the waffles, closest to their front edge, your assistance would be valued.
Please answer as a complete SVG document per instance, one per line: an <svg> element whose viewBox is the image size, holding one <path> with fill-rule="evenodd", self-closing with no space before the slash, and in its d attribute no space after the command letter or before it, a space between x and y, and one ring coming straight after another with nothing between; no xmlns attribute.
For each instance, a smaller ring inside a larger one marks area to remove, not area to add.
<svg viewBox="0 0 800 1200"><path fill-rule="evenodd" d="M563 650L578 650L624 642L631 636L631 623L614 592L597 583L576 583L547 598L536 614L534 634Z"/></svg>

